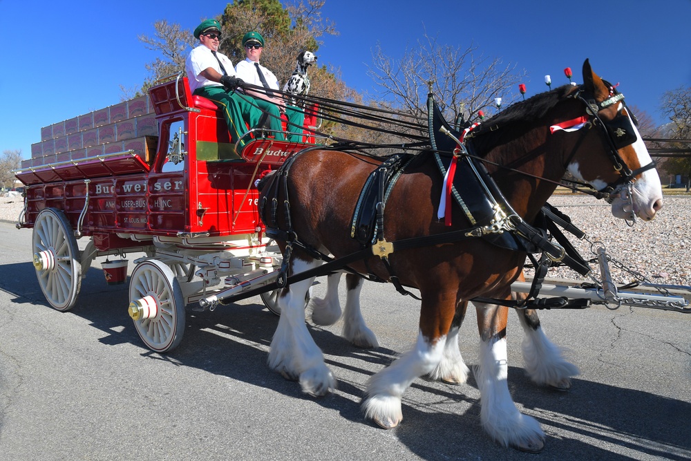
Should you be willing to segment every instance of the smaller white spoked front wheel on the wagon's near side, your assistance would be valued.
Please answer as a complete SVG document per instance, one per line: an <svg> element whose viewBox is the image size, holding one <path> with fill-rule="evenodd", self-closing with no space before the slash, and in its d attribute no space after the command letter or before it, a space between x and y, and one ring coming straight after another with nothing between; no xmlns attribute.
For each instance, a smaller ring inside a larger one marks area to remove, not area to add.
<svg viewBox="0 0 691 461"><path fill-rule="evenodd" d="M171 268L155 259L134 268L129 286L129 314L137 332L155 352L167 352L182 341L184 301Z"/></svg>

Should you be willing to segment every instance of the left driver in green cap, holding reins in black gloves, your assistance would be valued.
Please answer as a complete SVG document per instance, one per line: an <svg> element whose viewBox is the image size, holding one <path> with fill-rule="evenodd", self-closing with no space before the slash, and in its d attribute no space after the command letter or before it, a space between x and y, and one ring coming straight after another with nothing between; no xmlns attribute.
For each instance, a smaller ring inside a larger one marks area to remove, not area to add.
<svg viewBox="0 0 691 461"><path fill-rule="evenodd" d="M193 94L207 97L223 110L230 137L237 142L247 133L245 120L254 126L252 121L261 117L261 111L235 92L243 81L237 77L231 60L218 52L220 23L216 19L203 21L194 30L194 37L199 45L185 61L189 88ZM244 146L244 141L238 144L240 149Z"/></svg>

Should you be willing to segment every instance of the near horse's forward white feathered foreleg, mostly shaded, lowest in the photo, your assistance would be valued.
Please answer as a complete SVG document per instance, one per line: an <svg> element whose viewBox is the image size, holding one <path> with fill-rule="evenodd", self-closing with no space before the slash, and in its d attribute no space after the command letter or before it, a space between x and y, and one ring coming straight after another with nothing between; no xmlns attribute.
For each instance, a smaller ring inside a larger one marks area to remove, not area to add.
<svg viewBox="0 0 691 461"><path fill-rule="evenodd" d="M480 364L473 370L480 388L480 421L500 444L540 451L545 433L537 420L520 413L513 403L507 383L508 370L506 338L481 341Z"/></svg>

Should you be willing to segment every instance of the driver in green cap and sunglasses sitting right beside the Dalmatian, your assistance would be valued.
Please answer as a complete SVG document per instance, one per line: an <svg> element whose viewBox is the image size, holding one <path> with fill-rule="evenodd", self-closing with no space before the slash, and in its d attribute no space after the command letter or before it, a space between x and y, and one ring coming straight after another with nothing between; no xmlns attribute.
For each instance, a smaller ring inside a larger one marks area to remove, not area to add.
<svg viewBox="0 0 691 461"><path fill-rule="evenodd" d="M264 91L261 91L245 87L243 88L245 94L254 97L254 102L256 102L257 106L268 114L269 129L272 130L277 140L285 140L283 127L281 126L281 114L285 113L288 119L289 140L302 142L305 113L297 106L285 104L285 100L278 93L278 79L276 75L259 64L259 59L264 49L264 37L259 32L250 30L243 37L243 47L245 48L247 58L238 62L235 67L238 77L248 84L265 88ZM256 122L250 121L249 124L256 126L258 120Z"/></svg>

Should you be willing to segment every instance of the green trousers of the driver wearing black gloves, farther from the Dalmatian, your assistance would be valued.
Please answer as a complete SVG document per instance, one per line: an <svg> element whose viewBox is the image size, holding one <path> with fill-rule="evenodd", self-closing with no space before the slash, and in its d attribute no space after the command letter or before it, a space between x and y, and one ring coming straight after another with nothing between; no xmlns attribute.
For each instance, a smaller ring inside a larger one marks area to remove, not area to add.
<svg viewBox="0 0 691 461"><path fill-rule="evenodd" d="M206 97L214 101L218 107L223 111L223 117L228 124L228 131L233 142L238 142L242 136L247 133L247 126L255 126L256 122L252 120L259 120L261 111L249 102L243 100L243 97L237 95L234 91L227 91L223 86L202 86L194 91L194 94ZM276 110L278 112L278 110ZM242 149L247 144L244 138L238 147Z"/></svg>

